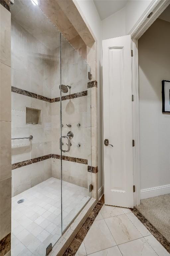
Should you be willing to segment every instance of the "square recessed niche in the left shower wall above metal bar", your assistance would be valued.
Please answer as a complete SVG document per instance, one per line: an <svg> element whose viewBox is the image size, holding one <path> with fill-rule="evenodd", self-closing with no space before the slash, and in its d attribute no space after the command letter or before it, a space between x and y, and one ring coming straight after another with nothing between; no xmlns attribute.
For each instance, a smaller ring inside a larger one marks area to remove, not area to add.
<svg viewBox="0 0 170 256"><path fill-rule="evenodd" d="M26 107L26 124L42 124L41 110Z"/></svg>

